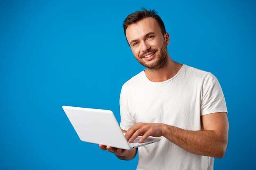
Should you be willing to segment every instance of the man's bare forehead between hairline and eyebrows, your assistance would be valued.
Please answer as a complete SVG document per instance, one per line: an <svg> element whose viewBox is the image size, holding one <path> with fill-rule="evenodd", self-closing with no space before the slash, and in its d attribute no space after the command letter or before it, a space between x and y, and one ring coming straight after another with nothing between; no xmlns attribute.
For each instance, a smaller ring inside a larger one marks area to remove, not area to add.
<svg viewBox="0 0 256 170"><path fill-rule="evenodd" d="M135 24L131 24L126 29L126 38L128 42L131 40L137 40L139 38L143 38L147 33L161 33L161 29L157 21L152 18L144 18Z"/></svg>

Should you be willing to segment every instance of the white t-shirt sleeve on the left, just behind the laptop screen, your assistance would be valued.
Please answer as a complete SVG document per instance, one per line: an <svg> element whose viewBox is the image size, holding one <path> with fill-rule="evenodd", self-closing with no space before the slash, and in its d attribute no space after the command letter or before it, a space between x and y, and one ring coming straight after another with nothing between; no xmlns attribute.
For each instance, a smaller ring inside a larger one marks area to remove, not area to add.
<svg viewBox="0 0 256 170"><path fill-rule="evenodd" d="M128 103L127 96L126 96L125 88L123 86L120 94L120 116L121 116L120 127L123 130L128 130L131 126L136 124L129 111L129 107L127 103Z"/></svg>

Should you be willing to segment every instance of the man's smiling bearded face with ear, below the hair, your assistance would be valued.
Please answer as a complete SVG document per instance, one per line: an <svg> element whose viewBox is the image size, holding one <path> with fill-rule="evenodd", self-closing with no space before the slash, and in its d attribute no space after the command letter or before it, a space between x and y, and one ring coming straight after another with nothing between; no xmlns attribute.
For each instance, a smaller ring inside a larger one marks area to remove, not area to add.
<svg viewBox="0 0 256 170"><path fill-rule="evenodd" d="M167 63L169 34L162 34L154 18L144 18L129 25L126 29L126 38L133 55L146 68L158 69Z"/></svg>

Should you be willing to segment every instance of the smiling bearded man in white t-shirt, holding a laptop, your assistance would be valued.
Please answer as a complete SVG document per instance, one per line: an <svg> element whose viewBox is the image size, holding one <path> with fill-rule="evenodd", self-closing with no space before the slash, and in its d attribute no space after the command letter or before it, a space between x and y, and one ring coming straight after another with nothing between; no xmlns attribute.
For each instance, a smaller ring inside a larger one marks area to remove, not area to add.
<svg viewBox="0 0 256 170"><path fill-rule="evenodd" d="M212 170L213 157L225 154L229 129L218 80L171 59L169 34L155 10L128 15L124 32L132 53L147 69L122 87L121 129L128 142L140 135L139 142L149 136L161 138L139 147L137 170ZM99 147L125 160L137 153Z"/></svg>

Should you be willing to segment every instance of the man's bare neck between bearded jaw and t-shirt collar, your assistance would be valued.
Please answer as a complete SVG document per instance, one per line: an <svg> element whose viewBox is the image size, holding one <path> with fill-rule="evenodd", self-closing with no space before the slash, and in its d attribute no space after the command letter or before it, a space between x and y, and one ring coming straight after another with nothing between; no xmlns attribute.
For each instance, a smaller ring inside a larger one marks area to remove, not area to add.
<svg viewBox="0 0 256 170"><path fill-rule="evenodd" d="M166 65L163 66L162 68L158 68L158 69L147 68L145 70L145 74L151 82L164 82L168 79L171 79L178 73L178 71L182 67L182 64L179 64L173 61L169 55L167 60L168 61Z"/></svg>

